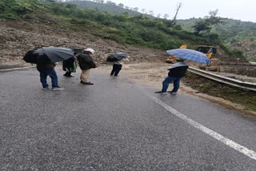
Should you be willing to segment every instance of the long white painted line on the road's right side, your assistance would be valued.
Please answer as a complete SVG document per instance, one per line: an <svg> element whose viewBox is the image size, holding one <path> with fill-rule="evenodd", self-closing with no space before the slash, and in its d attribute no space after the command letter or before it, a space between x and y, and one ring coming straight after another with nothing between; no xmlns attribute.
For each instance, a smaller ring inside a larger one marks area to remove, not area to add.
<svg viewBox="0 0 256 171"><path fill-rule="evenodd" d="M199 124L197 121L194 121L194 120L190 119L189 117L186 117L186 115L178 112L177 110L175 110L174 108L170 107L169 105L166 105L166 103L162 102L157 97L149 95L148 93L143 91L143 89L142 89L142 92L145 93L147 97L149 97L150 99L152 99L153 101L158 103L158 105L161 105L167 111L169 111L170 113L174 114L175 116L181 118L183 121L186 121L187 123L189 123L190 125L194 126L195 128L201 130L204 133L207 133L211 137L214 137L218 141L221 141L225 145L230 146L231 148L237 150L238 152L243 153L246 156L256 160L256 153L253 150L247 149L246 147L244 147L242 145L239 145L235 141L232 141L229 138L223 137L221 134L216 133L213 130L206 128L206 126Z"/></svg>

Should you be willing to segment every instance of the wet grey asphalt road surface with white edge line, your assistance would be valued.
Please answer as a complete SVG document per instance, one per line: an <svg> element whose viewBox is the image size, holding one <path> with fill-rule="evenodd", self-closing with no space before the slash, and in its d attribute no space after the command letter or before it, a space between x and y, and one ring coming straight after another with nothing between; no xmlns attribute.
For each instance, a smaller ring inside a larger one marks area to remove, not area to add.
<svg viewBox="0 0 256 171"><path fill-rule="evenodd" d="M256 170L253 117L122 76L62 74L54 92L35 69L0 72L0 170Z"/></svg>

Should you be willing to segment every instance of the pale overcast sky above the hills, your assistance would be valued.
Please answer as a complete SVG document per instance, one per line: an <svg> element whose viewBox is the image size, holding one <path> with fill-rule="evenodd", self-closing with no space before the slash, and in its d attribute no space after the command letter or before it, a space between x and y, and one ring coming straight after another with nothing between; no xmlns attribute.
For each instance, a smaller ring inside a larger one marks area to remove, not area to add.
<svg viewBox="0 0 256 171"><path fill-rule="evenodd" d="M124 6L138 7L146 11L153 10L154 15L168 14L174 18L178 3L182 7L177 19L203 18L210 10L218 10L218 17L233 18L243 22L256 22L256 0L110 0ZM105 1L106 2L106 1Z"/></svg>

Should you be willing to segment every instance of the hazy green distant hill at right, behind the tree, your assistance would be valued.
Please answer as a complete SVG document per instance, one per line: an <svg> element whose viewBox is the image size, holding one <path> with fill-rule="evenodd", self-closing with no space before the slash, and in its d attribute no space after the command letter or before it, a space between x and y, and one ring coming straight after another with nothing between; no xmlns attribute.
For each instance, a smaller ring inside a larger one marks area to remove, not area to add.
<svg viewBox="0 0 256 171"><path fill-rule="evenodd" d="M192 26L199 20L178 20L177 24L182 26L183 30L194 31ZM211 32L218 34L218 38L226 45L241 50L246 58L256 61L256 23L228 18L222 18L221 21L218 25L212 26Z"/></svg>

